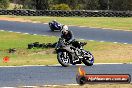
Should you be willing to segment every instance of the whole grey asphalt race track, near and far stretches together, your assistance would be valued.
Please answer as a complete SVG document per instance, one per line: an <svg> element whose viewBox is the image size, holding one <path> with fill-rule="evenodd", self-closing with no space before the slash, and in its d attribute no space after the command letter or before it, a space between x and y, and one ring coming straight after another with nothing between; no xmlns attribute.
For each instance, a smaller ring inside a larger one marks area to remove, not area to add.
<svg viewBox="0 0 132 88"><path fill-rule="evenodd" d="M75 38L86 40L110 41L132 44L132 32L104 30L88 27L70 26ZM51 32L47 24L0 21L0 30L60 36L60 32ZM130 74L132 64L100 64L83 66L89 74ZM0 67L0 87L37 86L48 84L76 84L78 66L22 66Z"/></svg>

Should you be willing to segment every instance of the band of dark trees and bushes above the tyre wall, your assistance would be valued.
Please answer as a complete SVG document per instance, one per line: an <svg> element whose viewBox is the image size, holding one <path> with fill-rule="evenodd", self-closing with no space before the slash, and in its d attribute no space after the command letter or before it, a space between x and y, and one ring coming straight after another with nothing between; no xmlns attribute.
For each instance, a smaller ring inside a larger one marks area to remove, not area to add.
<svg viewBox="0 0 132 88"><path fill-rule="evenodd" d="M0 8L11 3L23 5L23 9L37 10L132 10L132 0L0 0Z"/></svg>

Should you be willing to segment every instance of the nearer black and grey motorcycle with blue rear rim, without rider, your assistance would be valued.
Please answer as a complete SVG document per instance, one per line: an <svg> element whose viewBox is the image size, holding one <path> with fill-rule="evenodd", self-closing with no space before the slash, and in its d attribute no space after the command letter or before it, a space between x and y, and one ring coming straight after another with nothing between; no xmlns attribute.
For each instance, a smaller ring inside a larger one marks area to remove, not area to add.
<svg viewBox="0 0 132 88"><path fill-rule="evenodd" d="M86 43L79 42L79 44L80 48L77 49L73 47L71 44L66 44L64 39L59 38L55 50L57 53L58 62L62 66L68 67L71 64L76 65L81 64L82 62L87 66L93 65L94 63L93 55L89 51L83 49L83 46L86 45ZM72 58L73 56L74 58Z"/></svg>

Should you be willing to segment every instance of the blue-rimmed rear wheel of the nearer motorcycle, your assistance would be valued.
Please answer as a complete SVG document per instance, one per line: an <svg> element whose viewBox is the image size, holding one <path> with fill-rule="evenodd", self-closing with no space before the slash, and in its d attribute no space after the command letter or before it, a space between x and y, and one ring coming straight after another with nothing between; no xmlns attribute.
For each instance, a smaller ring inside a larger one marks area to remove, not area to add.
<svg viewBox="0 0 132 88"><path fill-rule="evenodd" d="M87 65L87 66L92 66L94 63L94 57L93 55L88 52L88 51L84 51L84 56L83 56L83 60L82 62Z"/></svg>

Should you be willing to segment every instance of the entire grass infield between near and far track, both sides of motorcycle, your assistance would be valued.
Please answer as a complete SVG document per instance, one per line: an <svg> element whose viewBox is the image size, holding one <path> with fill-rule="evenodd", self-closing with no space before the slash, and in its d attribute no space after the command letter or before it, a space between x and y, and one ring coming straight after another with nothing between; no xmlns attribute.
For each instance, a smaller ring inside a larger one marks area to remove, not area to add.
<svg viewBox="0 0 132 88"><path fill-rule="evenodd" d="M23 35L18 33L0 31L0 65L52 65L58 64L54 49L27 49L27 44L33 42L54 43L58 37L41 35ZM110 42L86 41L84 47L95 57L95 63L129 63L132 62L131 45L113 44ZM16 53L8 53L9 48L16 48ZM10 57L8 63L3 62L3 57Z"/></svg>

